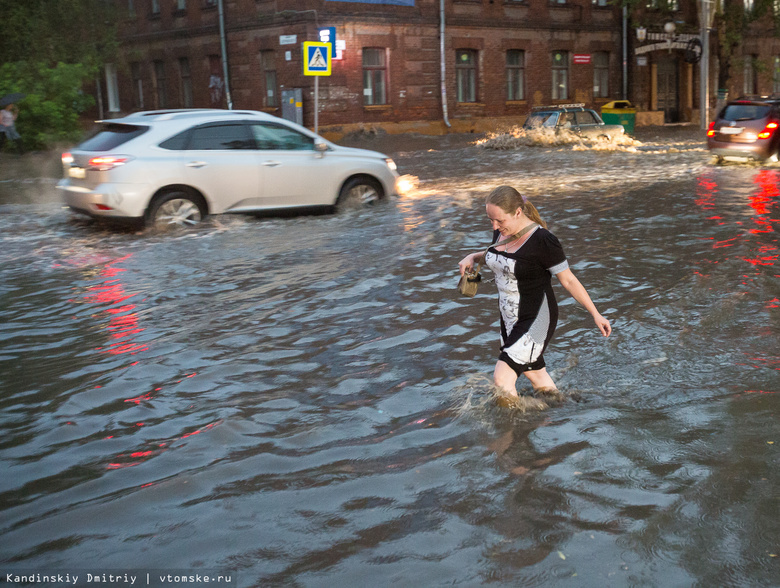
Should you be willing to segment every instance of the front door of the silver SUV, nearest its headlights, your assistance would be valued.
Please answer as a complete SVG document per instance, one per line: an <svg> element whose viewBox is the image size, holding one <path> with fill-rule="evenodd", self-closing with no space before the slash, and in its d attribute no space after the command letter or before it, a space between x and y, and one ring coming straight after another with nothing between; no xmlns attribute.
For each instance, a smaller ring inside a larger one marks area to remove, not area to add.
<svg viewBox="0 0 780 588"><path fill-rule="evenodd" d="M269 208L333 204L339 157L317 151L314 138L277 122L250 125L263 170L262 204Z"/></svg>

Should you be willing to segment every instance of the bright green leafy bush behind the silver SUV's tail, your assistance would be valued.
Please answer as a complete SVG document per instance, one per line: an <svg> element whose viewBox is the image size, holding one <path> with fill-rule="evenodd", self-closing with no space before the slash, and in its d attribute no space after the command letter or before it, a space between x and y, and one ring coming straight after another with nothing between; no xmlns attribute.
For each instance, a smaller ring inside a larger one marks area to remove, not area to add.
<svg viewBox="0 0 780 588"><path fill-rule="evenodd" d="M0 66L0 97L27 94L18 104L16 130L25 149L46 149L57 142L77 141L82 133L79 114L94 104L82 91L91 78L82 64L5 63Z"/></svg>

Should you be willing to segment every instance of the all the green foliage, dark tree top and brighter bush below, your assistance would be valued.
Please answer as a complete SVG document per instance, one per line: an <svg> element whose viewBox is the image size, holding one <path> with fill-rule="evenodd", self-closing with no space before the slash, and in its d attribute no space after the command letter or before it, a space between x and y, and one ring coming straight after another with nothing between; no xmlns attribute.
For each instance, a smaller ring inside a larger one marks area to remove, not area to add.
<svg viewBox="0 0 780 588"><path fill-rule="evenodd" d="M94 104L85 88L117 52L113 0L0 0L0 96L22 92L26 148L73 140Z"/></svg>

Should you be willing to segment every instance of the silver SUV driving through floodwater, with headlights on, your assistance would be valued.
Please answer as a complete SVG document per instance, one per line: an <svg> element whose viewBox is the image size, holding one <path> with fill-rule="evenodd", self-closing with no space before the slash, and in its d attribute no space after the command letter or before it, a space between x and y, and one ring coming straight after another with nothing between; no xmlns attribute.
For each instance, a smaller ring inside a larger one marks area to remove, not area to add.
<svg viewBox="0 0 780 588"><path fill-rule="evenodd" d="M208 214L365 206L397 194L392 159L255 111L167 110L100 121L62 156L75 212L147 226Z"/></svg>

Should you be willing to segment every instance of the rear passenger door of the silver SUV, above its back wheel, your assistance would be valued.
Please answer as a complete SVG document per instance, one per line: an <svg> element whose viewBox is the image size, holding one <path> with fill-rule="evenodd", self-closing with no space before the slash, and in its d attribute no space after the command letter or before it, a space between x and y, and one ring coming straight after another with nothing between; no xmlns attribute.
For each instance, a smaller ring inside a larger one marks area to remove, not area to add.
<svg viewBox="0 0 780 588"><path fill-rule="evenodd" d="M211 212L251 208L262 197L258 151L246 123L197 126L182 155L187 183L206 197Z"/></svg>

